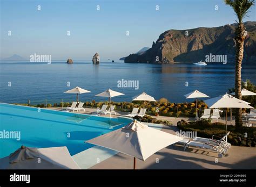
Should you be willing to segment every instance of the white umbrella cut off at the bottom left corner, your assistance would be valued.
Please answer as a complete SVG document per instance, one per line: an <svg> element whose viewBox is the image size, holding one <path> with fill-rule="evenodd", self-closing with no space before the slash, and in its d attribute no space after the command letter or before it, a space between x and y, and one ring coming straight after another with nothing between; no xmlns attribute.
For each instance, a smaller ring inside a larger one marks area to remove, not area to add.
<svg viewBox="0 0 256 187"><path fill-rule="evenodd" d="M0 169L80 169L66 147L29 148L22 146L0 159Z"/></svg>

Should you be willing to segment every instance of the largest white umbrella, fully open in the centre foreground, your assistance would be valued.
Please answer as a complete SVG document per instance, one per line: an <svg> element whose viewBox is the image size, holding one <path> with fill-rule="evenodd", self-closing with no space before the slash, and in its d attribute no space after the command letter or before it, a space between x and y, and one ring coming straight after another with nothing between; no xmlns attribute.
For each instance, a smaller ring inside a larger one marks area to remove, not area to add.
<svg viewBox="0 0 256 187"><path fill-rule="evenodd" d="M98 136L86 142L102 146L145 161L152 154L158 152L183 138L144 125L137 120L116 131Z"/></svg>

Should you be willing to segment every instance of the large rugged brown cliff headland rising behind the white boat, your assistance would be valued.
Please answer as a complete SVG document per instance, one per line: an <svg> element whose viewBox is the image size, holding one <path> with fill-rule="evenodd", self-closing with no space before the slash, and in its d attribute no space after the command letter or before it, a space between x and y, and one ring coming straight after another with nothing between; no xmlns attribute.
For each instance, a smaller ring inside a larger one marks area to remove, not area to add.
<svg viewBox="0 0 256 187"><path fill-rule="evenodd" d="M248 31L244 47L244 62L256 62L256 21L244 23ZM237 24L220 27L199 27L189 30L169 30L144 53L123 57L126 63L198 62L206 55L227 55L227 62L234 62L234 33ZM120 59L120 60L121 60Z"/></svg>

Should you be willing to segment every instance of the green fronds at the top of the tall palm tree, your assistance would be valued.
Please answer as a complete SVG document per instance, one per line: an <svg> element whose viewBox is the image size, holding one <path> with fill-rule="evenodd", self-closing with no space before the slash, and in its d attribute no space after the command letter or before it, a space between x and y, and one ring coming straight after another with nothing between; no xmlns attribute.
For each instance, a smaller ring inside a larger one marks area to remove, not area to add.
<svg viewBox="0 0 256 187"><path fill-rule="evenodd" d="M226 5L230 5L237 14L238 22L247 16L248 10L254 5L254 0L224 0Z"/></svg>

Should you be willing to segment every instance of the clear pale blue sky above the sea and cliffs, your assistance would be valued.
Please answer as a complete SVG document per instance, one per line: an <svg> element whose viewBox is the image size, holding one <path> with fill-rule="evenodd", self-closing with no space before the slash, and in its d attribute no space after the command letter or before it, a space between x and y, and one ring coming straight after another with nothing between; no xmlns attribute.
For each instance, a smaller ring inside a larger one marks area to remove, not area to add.
<svg viewBox="0 0 256 187"><path fill-rule="evenodd" d="M98 52L100 59L119 59L151 47L170 29L215 27L237 20L223 0L0 1L2 58L18 54L29 59L36 53L51 55L52 60L82 60ZM254 6L244 21L256 21L255 12Z"/></svg>

